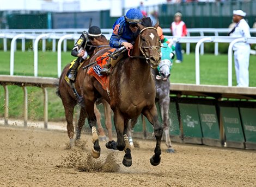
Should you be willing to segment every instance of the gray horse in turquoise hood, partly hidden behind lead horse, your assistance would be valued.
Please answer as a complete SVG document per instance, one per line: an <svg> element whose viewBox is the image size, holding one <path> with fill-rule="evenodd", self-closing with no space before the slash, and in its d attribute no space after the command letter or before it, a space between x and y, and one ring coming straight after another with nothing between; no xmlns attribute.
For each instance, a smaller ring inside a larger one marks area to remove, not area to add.
<svg viewBox="0 0 256 187"><path fill-rule="evenodd" d="M170 104L170 70L173 66L174 54L173 50L175 48L169 47L167 43L162 44L161 49L161 62L159 67L156 69L151 69L152 75L154 76L155 86L156 86L156 102L159 102L161 108L161 116L163 119L163 130L165 134L167 152L174 152L172 147L172 142L170 141L169 128L169 104ZM137 122L137 118L130 120L129 126L127 128L127 135L131 146L133 146L132 132L133 128Z"/></svg>

